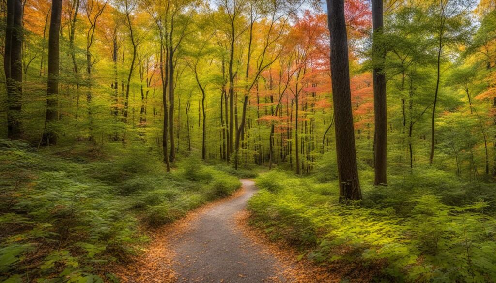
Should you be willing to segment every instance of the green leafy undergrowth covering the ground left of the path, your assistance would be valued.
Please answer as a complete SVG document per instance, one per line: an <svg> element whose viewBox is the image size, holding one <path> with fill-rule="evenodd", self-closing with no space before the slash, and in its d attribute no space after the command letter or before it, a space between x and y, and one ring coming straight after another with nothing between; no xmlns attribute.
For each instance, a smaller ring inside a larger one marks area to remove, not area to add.
<svg viewBox="0 0 496 283"><path fill-rule="evenodd" d="M143 143L98 159L55 150L0 140L0 282L116 280L106 267L139 252L138 226L173 222L241 185L192 158L167 173Z"/></svg>

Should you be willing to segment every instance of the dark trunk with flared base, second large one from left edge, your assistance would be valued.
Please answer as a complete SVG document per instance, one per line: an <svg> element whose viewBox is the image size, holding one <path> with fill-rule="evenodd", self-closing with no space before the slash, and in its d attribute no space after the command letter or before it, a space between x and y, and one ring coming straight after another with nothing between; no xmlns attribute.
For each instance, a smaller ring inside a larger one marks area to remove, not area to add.
<svg viewBox="0 0 496 283"><path fill-rule="evenodd" d="M43 145L56 145L57 134L54 122L59 119L59 35L61 28L62 0L52 0L52 16L48 35L48 82L47 82L47 113L43 132Z"/></svg>

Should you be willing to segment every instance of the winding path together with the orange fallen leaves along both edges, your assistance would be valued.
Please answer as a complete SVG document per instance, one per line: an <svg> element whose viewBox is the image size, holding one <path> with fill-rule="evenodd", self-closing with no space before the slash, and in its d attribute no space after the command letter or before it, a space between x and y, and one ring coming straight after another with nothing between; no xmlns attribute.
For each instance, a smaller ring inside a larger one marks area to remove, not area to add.
<svg viewBox="0 0 496 283"><path fill-rule="evenodd" d="M123 282L339 282L247 225L245 207L257 188L241 181L231 197L153 231L144 255L117 268Z"/></svg>

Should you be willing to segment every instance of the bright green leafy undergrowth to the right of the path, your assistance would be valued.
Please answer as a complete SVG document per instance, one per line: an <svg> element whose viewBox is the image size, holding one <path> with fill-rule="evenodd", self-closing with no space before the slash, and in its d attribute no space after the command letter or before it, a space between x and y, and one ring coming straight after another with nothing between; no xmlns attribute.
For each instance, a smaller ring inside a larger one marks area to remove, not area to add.
<svg viewBox="0 0 496 283"><path fill-rule="evenodd" d="M494 184L425 168L392 176L388 187L363 179L364 201L339 204L337 182L320 179L261 174L250 223L318 264L380 266L377 280L495 282Z"/></svg>

